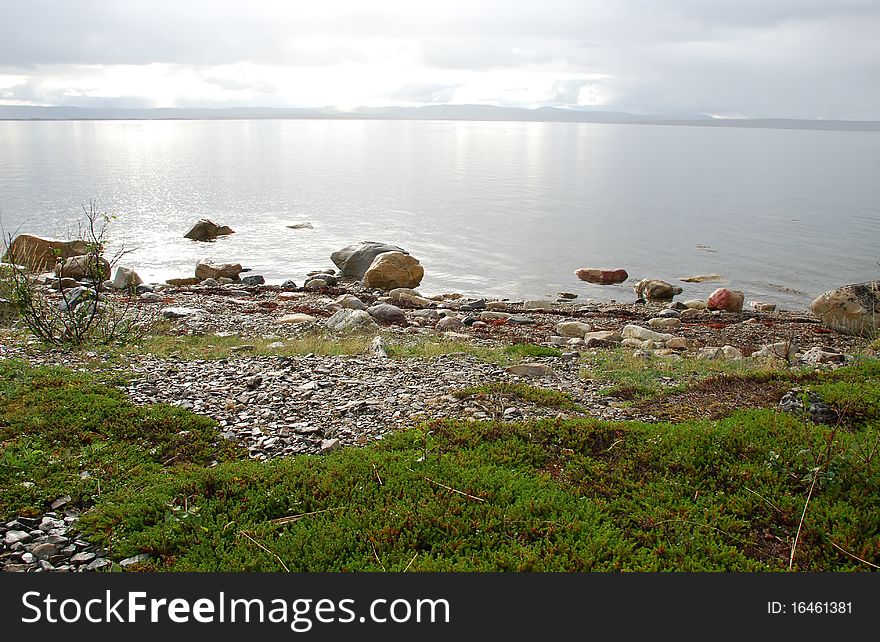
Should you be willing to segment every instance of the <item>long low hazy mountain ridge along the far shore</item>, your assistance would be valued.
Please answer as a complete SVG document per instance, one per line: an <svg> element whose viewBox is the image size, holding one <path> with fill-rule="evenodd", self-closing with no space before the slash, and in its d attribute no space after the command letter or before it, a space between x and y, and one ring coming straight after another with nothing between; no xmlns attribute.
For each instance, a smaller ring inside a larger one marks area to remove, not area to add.
<svg viewBox="0 0 880 642"><path fill-rule="evenodd" d="M680 125L696 127L751 127L880 131L880 121L806 120L784 118L713 118L705 114L642 115L615 111L493 105L425 105L422 107L359 107L353 111L326 108L221 107L221 108L96 108L32 107L0 105L0 120L244 120L244 119L335 119L335 120L461 120L565 123L613 123L627 125Z"/></svg>

